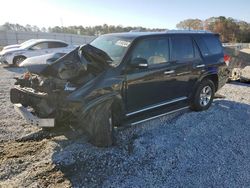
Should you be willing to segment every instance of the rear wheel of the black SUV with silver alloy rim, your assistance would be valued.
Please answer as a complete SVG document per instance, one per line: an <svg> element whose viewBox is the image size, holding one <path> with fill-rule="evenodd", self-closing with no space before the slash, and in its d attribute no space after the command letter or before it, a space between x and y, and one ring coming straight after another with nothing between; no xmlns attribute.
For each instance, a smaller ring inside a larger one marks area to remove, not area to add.
<svg viewBox="0 0 250 188"><path fill-rule="evenodd" d="M207 110L214 99L215 86L209 79L202 80L197 87L191 103L191 109L194 111Z"/></svg>

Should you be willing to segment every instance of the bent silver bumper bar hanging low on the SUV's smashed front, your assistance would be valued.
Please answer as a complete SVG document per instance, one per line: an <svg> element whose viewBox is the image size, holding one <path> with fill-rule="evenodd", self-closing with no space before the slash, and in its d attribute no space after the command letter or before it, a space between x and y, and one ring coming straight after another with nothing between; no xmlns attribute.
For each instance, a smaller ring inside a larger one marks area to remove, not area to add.
<svg viewBox="0 0 250 188"><path fill-rule="evenodd" d="M14 104L15 110L31 125L37 127L54 127L54 118L38 118L34 116L28 109L26 109L22 104Z"/></svg>

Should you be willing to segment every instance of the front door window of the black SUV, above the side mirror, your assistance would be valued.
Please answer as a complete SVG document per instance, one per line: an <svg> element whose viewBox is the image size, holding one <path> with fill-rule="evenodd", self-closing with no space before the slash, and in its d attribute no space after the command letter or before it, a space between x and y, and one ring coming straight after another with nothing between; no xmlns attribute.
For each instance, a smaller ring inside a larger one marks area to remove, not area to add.
<svg viewBox="0 0 250 188"><path fill-rule="evenodd" d="M149 65L169 61L168 38L141 40L133 50L132 59L135 58L144 58Z"/></svg>

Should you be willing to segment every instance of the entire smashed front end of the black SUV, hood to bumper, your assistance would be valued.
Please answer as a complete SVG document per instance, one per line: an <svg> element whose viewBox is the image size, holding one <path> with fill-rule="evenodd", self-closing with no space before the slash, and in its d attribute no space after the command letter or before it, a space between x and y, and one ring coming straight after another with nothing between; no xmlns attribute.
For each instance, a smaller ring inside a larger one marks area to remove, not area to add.
<svg viewBox="0 0 250 188"><path fill-rule="evenodd" d="M54 127L73 121L81 103L68 96L107 70L111 58L89 44L68 54L52 54L26 59L27 72L15 78L10 100L16 110L38 127Z"/></svg>

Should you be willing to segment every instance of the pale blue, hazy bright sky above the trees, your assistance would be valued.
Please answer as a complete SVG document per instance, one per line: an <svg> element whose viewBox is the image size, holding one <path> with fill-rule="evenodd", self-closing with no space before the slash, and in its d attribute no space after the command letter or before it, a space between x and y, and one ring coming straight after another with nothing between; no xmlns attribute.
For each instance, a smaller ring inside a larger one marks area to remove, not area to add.
<svg viewBox="0 0 250 188"><path fill-rule="evenodd" d="M0 25L122 25L175 29L188 18L250 22L250 0L2 0Z"/></svg>

